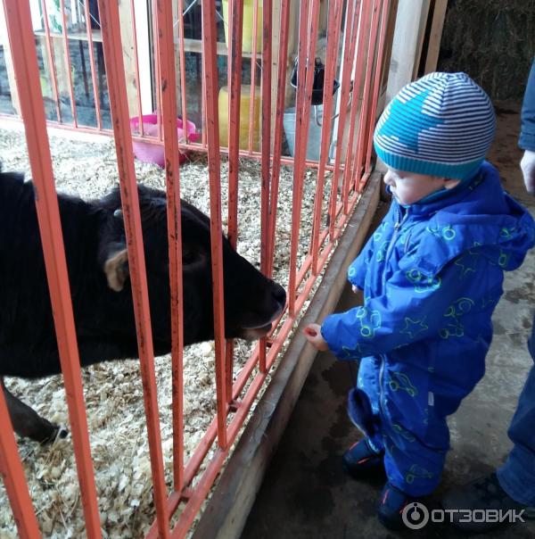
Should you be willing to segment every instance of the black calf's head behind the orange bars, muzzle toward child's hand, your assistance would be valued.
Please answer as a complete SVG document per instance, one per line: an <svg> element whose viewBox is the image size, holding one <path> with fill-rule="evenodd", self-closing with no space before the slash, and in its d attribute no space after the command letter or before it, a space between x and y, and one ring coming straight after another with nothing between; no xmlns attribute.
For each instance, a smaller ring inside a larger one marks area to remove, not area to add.
<svg viewBox="0 0 535 539"><path fill-rule="evenodd" d="M155 344L170 347L169 253L164 192L138 188L144 235L145 265ZM116 190L101 201L104 222L99 260L108 286L131 294L124 222ZM182 258L185 344L213 338L210 220L182 201ZM286 302L282 286L266 278L235 252L222 236L225 336L252 340L265 336Z"/></svg>

